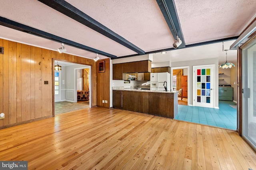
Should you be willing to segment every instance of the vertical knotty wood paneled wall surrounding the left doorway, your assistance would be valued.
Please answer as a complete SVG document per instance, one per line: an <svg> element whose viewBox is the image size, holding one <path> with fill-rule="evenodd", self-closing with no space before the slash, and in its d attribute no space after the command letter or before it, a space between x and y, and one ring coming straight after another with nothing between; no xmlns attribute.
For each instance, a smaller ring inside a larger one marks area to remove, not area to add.
<svg viewBox="0 0 256 170"><path fill-rule="evenodd" d="M52 117L54 59L91 65L90 95L92 106L96 105L96 62L93 59L3 39L0 39L0 46L4 47L4 54L0 54L0 113L5 113L5 118L0 119L0 128ZM106 65L109 67L109 62Z"/></svg>

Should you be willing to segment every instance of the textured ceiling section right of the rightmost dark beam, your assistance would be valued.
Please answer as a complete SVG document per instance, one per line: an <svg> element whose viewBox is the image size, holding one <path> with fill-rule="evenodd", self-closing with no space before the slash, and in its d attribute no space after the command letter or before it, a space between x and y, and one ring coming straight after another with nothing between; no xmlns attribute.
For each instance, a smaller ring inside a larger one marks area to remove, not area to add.
<svg viewBox="0 0 256 170"><path fill-rule="evenodd" d="M255 17L255 0L174 0L186 44L238 36Z"/></svg>

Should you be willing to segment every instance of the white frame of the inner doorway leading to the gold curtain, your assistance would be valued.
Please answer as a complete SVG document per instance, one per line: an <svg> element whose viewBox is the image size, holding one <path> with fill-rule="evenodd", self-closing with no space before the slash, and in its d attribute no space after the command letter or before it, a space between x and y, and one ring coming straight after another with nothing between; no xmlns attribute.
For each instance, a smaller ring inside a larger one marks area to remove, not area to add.
<svg viewBox="0 0 256 170"><path fill-rule="evenodd" d="M84 67L79 67L79 68L75 68L74 69L74 91L76 92L77 91L77 70L79 69L89 69L89 106L90 108L92 107L92 98L91 98L91 82L92 82L92 79L91 79L91 75L92 75L92 69L91 69L91 66L90 65L85 65ZM77 93L74 93L74 102L76 103L77 102Z"/></svg>

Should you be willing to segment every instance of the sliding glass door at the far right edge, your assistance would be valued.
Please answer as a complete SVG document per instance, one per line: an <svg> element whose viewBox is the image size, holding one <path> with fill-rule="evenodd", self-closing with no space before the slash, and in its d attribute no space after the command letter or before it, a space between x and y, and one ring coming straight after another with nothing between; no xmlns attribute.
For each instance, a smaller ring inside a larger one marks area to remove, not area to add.
<svg viewBox="0 0 256 170"><path fill-rule="evenodd" d="M256 148L256 40L242 49L242 136Z"/></svg>

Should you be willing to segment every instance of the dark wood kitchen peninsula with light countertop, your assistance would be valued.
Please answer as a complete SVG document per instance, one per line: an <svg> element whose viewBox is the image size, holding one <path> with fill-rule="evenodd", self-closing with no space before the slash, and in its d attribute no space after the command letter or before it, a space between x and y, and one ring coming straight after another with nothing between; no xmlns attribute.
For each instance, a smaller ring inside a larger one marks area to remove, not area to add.
<svg viewBox="0 0 256 170"><path fill-rule="evenodd" d="M178 92L113 87L113 108L174 118L178 113Z"/></svg>

